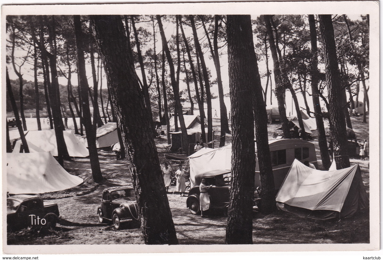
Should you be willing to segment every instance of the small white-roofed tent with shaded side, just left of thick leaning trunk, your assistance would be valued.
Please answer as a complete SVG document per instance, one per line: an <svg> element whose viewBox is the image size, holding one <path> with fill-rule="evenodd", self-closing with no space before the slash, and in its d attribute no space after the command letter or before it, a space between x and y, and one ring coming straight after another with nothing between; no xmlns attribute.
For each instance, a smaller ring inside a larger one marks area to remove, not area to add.
<svg viewBox="0 0 383 260"><path fill-rule="evenodd" d="M80 139L88 147L87 136L82 136ZM97 128L96 131L96 147L108 147L118 143L117 123L108 122Z"/></svg>

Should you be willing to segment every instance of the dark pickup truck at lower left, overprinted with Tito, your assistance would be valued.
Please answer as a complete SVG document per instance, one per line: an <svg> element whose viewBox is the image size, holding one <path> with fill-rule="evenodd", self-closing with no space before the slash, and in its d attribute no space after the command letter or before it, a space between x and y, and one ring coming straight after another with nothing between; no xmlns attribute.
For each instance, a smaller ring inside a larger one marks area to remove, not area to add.
<svg viewBox="0 0 383 260"><path fill-rule="evenodd" d="M29 226L56 227L59 217L56 203L44 202L42 198L19 194L7 198L7 230L18 230Z"/></svg>

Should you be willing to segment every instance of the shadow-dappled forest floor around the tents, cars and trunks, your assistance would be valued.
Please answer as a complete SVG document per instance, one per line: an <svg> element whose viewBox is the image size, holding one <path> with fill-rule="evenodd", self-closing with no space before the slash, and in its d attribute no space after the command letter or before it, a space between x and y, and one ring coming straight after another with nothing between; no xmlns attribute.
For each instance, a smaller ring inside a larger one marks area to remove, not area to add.
<svg viewBox="0 0 383 260"><path fill-rule="evenodd" d="M213 118L213 127L219 130L219 119ZM352 118L352 124L358 140L368 139L368 124L362 123L362 117ZM268 134L272 137L279 123L268 124ZM13 128L14 130L16 128ZM317 150L317 159L321 167L318 140L311 141ZM161 165L165 162L166 136L155 139ZM226 144L231 143L231 134L226 135ZM216 147L218 143L216 144ZM64 191L44 193L39 196L57 203L60 220L56 230L48 235L39 235L25 229L7 234L8 245L62 245L62 244L144 244L139 227L130 227L116 231L111 224L98 222L97 207L104 188L118 185L131 185L131 174L126 160L116 160L115 154L99 150L101 170L105 181L96 184L92 181L88 158L65 162L64 168L73 175L80 176L84 183ZM351 164L360 164L363 184L369 195L368 160L351 158ZM183 245L225 244L227 216L223 211L211 212L207 218L189 213L186 207L187 197L173 194L175 186L170 186L167 197L172 211L178 242ZM272 214L254 213L254 244L348 244L369 243L369 212L358 212L346 219L327 221L298 217L277 210Z"/></svg>

